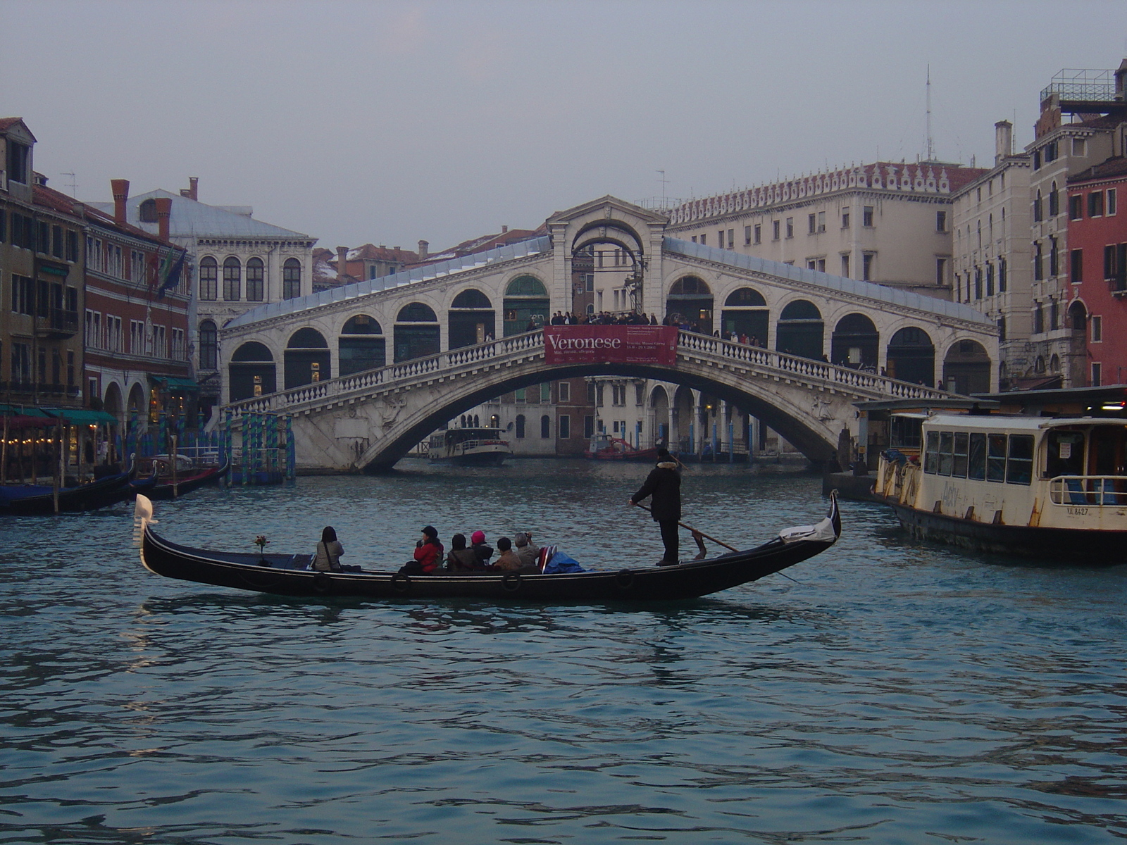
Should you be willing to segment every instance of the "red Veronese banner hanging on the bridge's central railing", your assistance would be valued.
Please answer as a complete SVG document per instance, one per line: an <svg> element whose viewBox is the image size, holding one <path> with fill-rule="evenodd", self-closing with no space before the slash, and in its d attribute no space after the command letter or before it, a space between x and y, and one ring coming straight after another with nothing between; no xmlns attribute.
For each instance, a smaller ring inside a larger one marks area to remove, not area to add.
<svg viewBox="0 0 1127 845"><path fill-rule="evenodd" d="M548 364L665 364L677 361L676 326L545 326Z"/></svg>

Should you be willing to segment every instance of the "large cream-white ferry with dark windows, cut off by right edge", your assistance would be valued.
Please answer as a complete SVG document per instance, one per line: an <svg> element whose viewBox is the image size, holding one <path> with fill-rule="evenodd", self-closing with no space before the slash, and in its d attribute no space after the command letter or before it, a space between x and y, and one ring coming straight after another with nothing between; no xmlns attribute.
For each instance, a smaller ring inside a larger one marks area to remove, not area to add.
<svg viewBox="0 0 1127 845"><path fill-rule="evenodd" d="M896 413L873 492L915 537L1127 562L1127 420Z"/></svg>

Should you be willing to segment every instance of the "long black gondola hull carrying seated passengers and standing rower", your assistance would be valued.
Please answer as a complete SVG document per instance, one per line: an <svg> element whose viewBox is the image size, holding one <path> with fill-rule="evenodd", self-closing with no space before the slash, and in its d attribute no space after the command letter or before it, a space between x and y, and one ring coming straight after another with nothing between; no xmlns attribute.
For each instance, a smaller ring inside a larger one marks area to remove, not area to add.
<svg viewBox="0 0 1127 845"><path fill-rule="evenodd" d="M399 571L314 572L308 554L214 552L171 543L153 530L152 504L137 496L135 507L141 562L145 569L218 587L282 596L362 598L480 598L527 602L668 601L695 598L765 576L811 558L841 536L836 491L829 513L816 525L780 532L747 551L669 567L612 567L603 571L518 573L483 572L410 576Z"/></svg>

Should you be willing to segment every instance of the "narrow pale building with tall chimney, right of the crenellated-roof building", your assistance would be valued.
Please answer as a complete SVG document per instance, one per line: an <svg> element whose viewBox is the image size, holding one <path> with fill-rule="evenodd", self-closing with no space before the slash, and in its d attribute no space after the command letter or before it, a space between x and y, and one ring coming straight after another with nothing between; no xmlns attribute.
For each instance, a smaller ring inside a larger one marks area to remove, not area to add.
<svg viewBox="0 0 1127 845"><path fill-rule="evenodd" d="M994 167L951 197L955 297L997 323L1003 389L1033 370L1029 354L1029 176L1031 157L1013 152L1013 126L994 125Z"/></svg>

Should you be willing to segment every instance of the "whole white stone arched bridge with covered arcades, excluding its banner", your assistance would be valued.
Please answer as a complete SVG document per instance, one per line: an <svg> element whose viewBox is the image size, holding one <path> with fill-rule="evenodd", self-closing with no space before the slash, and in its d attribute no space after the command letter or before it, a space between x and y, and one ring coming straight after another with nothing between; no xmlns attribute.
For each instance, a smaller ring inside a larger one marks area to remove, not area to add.
<svg viewBox="0 0 1127 845"><path fill-rule="evenodd" d="M300 468L372 471L494 397L620 375L704 391L823 462L855 436L853 402L996 389L997 330L973 309L666 238L666 222L604 197L532 241L249 311L220 332L227 410L293 413ZM672 366L550 365L526 331L574 309L595 244L623 257L618 310L695 323Z"/></svg>

